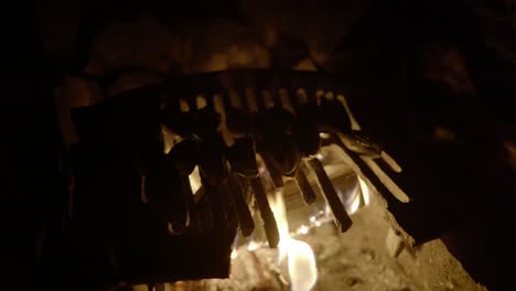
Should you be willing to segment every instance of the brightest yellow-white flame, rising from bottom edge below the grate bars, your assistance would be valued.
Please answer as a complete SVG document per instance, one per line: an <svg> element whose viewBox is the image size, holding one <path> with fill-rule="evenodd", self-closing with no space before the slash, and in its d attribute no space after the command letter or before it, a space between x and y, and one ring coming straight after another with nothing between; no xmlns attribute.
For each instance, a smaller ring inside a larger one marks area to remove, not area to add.
<svg viewBox="0 0 516 291"><path fill-rule="evenodd" d="M276 192L276 197L270 198L269 203L280 234L279 261L288 259L291 290L309 291L318 281L318 267L313 250L309 244L290 236L282 193Z"/></svg>

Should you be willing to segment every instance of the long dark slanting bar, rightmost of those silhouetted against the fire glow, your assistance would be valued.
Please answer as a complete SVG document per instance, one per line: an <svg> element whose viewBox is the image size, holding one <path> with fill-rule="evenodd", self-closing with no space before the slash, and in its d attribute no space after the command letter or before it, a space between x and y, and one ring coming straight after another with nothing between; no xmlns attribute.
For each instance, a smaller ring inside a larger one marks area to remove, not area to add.
<svg viewBox="0 0 516 291"><path fill-rule="evenodd" d="M344 233L352 226L353 222L346 213L344 205L342 204L338 195L333 187L332 181L324 172L324 168L318 159L311 159L308 161L309 166L315 173L318 184L321 187L321 191L326 200L326 203L332 209L333 217L335 218L335 224L338 229Z"/></svg>

